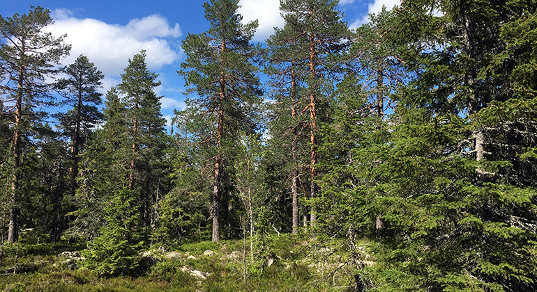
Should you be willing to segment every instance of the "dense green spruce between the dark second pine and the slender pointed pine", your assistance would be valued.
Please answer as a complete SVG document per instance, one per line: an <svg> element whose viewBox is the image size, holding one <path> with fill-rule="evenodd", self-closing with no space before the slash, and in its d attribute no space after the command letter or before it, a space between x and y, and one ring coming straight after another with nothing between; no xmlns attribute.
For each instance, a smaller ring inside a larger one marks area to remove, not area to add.
<svg viewBox="0 0 537 292"><path fill-rule="evenodd" d="M106 94L103 117L103 128L91 134L80 154L79 188L73 197L76 210L70 213L75 219L65 233L66 238L88 241L98 236L105 202L128 177L128 157L123 151L130 147L126 138L126 107L115 87Z"/></svg>

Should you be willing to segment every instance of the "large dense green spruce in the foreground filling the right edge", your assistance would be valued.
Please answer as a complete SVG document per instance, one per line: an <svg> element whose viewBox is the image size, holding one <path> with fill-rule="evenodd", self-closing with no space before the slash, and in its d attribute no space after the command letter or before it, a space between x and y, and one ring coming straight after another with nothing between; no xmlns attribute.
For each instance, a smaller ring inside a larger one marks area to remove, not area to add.
<svg viewBox="0 0 537 292"><path fill-rule="evenodd" d="M508 7L403 1L395 10L392 31L414 75L396 92L388 131L358 149L354 168L370 183L352 193L369 218L347 222L374 239L377 265L363 274L380 290L536 288L535 161L524 155L535 147L535 97L532 86L515 90L533 74L532 49L508 37L527 6ZM515 68L529 75L515 81ZM381 230L370 223L377 211Z"/></svg>

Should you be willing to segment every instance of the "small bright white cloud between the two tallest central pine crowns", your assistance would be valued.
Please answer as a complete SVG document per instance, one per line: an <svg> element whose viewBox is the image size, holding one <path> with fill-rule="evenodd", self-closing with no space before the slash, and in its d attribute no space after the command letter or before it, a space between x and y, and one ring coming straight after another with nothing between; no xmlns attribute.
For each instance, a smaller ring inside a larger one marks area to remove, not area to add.
<svg viewBox="0 0 537 292"><path fill-rule="evenodd" d="M274 33L274 26L282 27L280 0L241 0L239 13L243 15L243 23L259 20L259 27L254 40L264 41Z"/></svg>

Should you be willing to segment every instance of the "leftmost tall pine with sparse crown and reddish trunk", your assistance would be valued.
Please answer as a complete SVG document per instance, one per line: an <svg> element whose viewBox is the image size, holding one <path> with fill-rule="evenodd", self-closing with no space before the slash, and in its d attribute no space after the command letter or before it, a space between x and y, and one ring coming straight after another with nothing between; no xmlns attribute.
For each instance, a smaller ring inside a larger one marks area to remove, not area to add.
<svg viewBox="0 0 537 292"><path fill-rule="evenodd" d="M8 241L17 238L17 213L19 184L22 179L22 154L29 136L29 129L42 122L46 113L36 111L41 105L51 102L50 88L44 82L55 72L54 65L68 54L70 46L63 37L54 38L43 29L51 25L50 10L33 7L28 14L3 18L0 16L0 60L3 70L10 72L1 84L3 102L14 102L8 113L13 119L13 180L11 188L10 223Z"/></svg>

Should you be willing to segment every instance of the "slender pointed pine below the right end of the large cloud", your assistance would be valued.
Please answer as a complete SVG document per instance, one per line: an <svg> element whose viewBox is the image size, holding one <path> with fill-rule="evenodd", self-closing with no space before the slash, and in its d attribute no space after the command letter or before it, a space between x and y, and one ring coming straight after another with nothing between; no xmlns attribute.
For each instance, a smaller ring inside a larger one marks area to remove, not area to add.
<svg viewBox="0 0 537 292"><path fill-rule="evenodd" d="M117 86L126 108L126 138L130 151L123 151L129 153L128 184L142 196L140 211L146 225L154 220L151 206L156 192L160 191L157 172L164 147L165 120L160 113L160 97L154 92L160 86L157 77L158 74L147 69L146 52L142 50L129 60Z"/></svg>

